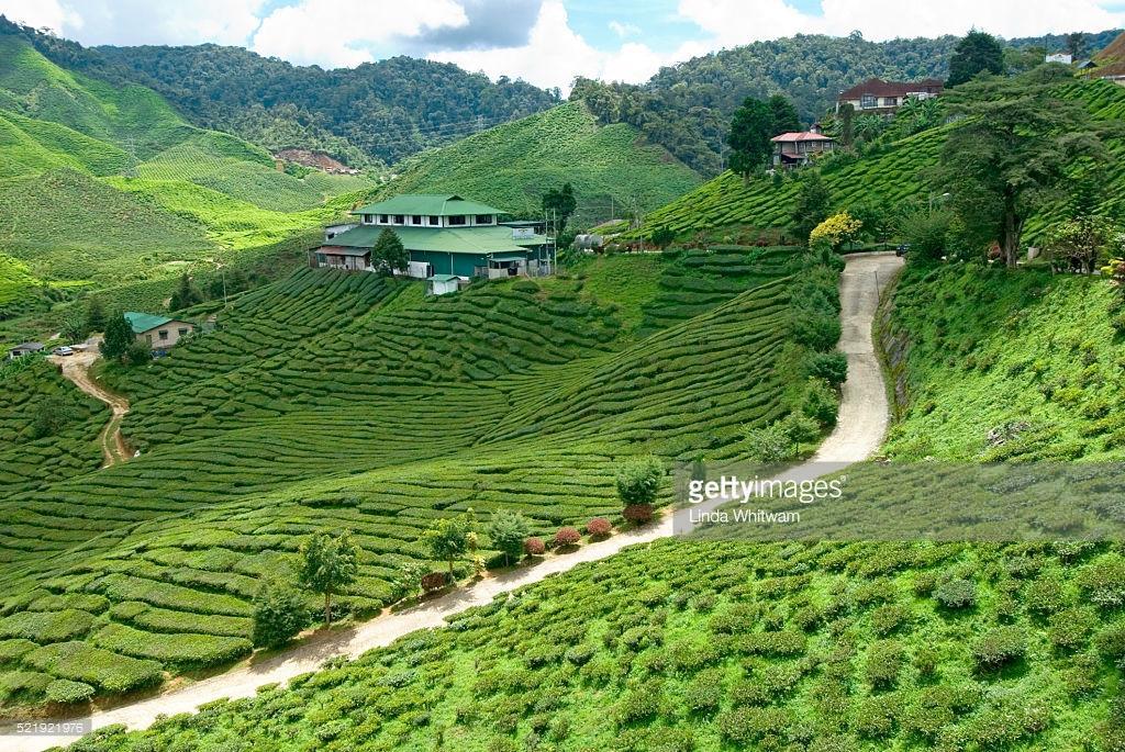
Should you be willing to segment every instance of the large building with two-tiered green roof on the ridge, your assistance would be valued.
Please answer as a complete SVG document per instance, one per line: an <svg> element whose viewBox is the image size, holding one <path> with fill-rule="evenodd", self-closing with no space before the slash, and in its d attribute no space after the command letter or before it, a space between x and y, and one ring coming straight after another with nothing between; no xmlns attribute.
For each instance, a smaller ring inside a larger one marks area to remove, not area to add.
<svg viewBox="0 0 1125 752"><path fill-rule="evenodd" d="M352 211L351 225L325 228L324 244L312 265L375 271L371 252L390 229L410 254L406 275L433 282L435 295L449 291L450 279L538 277L550 273L554 259L541 223L503 223L505 212L454 194L404 193Z"/></svg>

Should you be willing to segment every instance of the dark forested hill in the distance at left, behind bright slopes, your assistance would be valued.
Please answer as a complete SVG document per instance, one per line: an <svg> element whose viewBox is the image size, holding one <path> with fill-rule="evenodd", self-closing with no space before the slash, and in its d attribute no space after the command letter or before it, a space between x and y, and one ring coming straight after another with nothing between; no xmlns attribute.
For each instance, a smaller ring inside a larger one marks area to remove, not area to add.
<svg viewBox="0 0 1125 752"><path fill-rule="evenodd" d="M0 17L53 62L111 83L141 83L194 125L270 150L312 148L363 166L394 163L429 146L525 117L558 103L523 81L412 57L324 71L241 47L86 48Z"/></svg>

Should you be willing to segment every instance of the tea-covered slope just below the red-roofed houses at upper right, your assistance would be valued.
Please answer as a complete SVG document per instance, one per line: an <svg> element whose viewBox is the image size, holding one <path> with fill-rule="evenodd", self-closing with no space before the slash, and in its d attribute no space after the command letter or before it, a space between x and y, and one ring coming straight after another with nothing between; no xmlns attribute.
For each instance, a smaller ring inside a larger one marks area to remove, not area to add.
<svg viewBox="0 0 1125 752"><path fill-rule="evenodd" d="M1125 118L1125 89L1108 81L1076 82L1062 92L1068 99L1083 102L1101 120ZM947 125L925 130L893 144L880 145L860 157L837 157L821 167L835 207L861 203L894 208L910 198L927 198L926 171L937 164ZM1108 169L1107 203L1109 216L1125 214L1125 142L1110 139L1116 160ZM798 183L783 178L762 176L748 182L726 172L645 218L642 233L655 227L670 227L688 237L695 234L738 237L740 233L765 228L785 229L792 223ZM1048 217L1033 217L1028 232L1034 236Z"/></svg>

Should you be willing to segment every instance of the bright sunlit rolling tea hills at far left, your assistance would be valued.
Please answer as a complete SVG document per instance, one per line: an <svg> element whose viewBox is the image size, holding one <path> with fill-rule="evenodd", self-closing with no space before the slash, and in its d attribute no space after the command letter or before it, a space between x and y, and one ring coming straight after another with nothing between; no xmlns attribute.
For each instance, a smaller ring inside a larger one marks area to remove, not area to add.
<svg viewBox="0 0 1125 752"><path fill-rule="evenodd" d="M209 259L238 263L231 252L318 227L372 185L278 171L261 147L190 126L148 89L68 71L0 34L0 253L56 289L147 284ZM21 298L4 311L52 305Z"/></svg>

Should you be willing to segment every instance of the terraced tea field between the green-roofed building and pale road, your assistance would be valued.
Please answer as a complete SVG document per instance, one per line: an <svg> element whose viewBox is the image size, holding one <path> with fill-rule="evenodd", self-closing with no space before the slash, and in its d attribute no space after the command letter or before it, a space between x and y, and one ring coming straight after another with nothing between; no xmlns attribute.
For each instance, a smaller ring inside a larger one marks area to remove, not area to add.
<svg viewBox="0 0 1125 752"><path fill-rule="evenodd" d="M626 325L587 290L632 261L436 299L305 270L240 297L171 356L108 370L142 454L50 484L14 479L0 509L25 534L0 537L0 632L58 654L4 671L115 692L152 681L144 661L228 663L249 651L259 579L285 571L308 533L354 532L361 572L341 606L370 611L399 596L403 562L426 559L434 519L518 509L550 534L616 517L621 457L740 456L748 427L791 409L777 364L800 365L807 286L835 293L835 274L789 250L641 256L658 278L620 291L637 307ZM142 663L127 681L83 678L91 661L112 665L106 651ZM34 701L34 687L6 701Z"/></svg>

